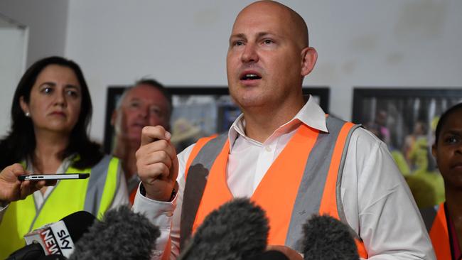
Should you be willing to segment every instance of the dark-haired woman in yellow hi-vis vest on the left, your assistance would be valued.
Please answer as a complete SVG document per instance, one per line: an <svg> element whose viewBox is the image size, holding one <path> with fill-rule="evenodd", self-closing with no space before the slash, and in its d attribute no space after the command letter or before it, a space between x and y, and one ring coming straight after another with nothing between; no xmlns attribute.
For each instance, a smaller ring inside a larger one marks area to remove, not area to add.
<svg viewBox="0 0 462 260"><path fill-rule="evenodd" d="M79 210L101 217L127 204L118 159L104 156L87 136L91 114L85 78L71 60L38 60L21 78L11 131L0 141L0 259L23 247L23 235L43 224ZM26 173L90 173L90 178L45 186L17 179Z"/></svg>

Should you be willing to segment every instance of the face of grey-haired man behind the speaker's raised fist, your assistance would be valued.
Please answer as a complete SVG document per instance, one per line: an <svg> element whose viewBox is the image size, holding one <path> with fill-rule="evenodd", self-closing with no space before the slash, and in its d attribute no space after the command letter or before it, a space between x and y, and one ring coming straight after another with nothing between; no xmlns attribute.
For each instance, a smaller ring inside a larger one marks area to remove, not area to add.
<svg viewBox="0 0 462 260"><path fill-rule="evenodd" d="M122 136L139 146L144 126L161 125L168 129L169 113L168 100L162 92L150 85L137 85L127 93L113 116L117 139Z"/></svg>

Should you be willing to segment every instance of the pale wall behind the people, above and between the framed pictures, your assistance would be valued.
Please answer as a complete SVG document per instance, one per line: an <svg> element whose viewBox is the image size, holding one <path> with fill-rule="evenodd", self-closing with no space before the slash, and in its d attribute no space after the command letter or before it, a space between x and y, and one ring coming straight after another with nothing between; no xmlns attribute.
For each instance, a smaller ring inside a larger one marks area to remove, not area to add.
<svg viewBox="0 0 462 260"><path fill-rule="evenodd" d="M102 141L108 85L144 76L165 85L227 85L227 39L247 3L70 0L64 54L90 85L92 137ZM332 114L351 118L355 86L462 86L460 0L283 3L308 22L319 58L304 85L331 87Z"/></svg>

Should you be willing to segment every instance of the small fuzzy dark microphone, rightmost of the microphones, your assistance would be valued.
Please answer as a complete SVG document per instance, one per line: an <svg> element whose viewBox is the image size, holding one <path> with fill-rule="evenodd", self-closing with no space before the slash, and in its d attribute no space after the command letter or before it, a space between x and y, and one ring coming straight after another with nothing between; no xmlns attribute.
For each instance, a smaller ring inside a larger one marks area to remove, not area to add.
<svg viewBox="0 0 462 260"><path fill-rule="evenodd" d="M303 256L306 260L358 260L350 228L328 215L313 215L303 225Z"/></svg>

